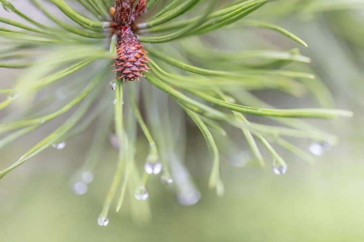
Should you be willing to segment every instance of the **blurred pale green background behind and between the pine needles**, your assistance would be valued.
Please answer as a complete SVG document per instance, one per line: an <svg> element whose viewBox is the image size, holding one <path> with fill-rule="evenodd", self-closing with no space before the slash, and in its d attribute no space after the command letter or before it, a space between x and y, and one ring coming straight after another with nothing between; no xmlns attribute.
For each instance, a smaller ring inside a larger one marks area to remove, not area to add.
<svg viewBox="0 0 364 242"><path fill-rule="evenodd" d="M88 150L91 128L67 142L63 150L49 148L1 179L0 241L362 242L364 11L357 1L348 9L296 13L280 7L287 2L294 1L276 1L274 7L262 8L255 18L268 19L303 39L309 48L299 48L312 58L311 68L329 87L336 106L354 111L352 119L315 122L340 137L338 146L318 156L314 165L281 153L289 165L282 176L275 175L270 165L236 167L226 160L222 163L225 195L216 197L215 191L207 188L211 158L204 139L195 126L187 123L185 163L199 187L200 201L183 207L173 190L160 183L158 175L149 181L152 219L148 224L132 219L126 199L119 213L113 211L113 204L109 225L99 227L97 217L112 179L117 151L105 144L103 159L86 194L75 195L70 184ZM6 14L0 11L0 15ZM219 33L242 49L298 47L269 30L223 29ZM17 76L15 72L0 73L1 81ZM256 94L280 107L313 106L308 98L292 98L278 91ZM1 167L16 161L34 140L51 129L47 126L2 149ZM142 166L147 144L143 137L138 142L137 162ZM308 151L309 141L298 145Z"/></svg>

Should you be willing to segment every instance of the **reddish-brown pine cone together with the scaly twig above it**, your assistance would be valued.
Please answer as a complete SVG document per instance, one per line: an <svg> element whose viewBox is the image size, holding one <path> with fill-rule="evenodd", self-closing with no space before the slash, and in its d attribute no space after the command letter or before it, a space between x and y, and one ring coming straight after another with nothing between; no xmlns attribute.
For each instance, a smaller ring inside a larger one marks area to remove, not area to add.
<svg viewBox="0 0 364 242"><path fill-rule="evenodd" d="M115 60L116 69L119 72L118 79L124 78L124 83L128 81L139 81L139 77L145 77L143 72L148 72L149 62L143 45L133 33L134 21L143 14L147 0L139 0L133 9L135 0L116 0L116 7L111 8L110 14L114 18L112 26L117 34L116 50L117 57Z"/></svg>

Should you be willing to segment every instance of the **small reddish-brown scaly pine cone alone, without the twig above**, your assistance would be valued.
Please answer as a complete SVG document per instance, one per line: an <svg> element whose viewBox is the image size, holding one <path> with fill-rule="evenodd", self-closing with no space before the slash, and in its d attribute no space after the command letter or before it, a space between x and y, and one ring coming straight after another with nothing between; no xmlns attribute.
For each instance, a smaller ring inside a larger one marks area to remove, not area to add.
<svg viewBox="0 0 364 242"><path fill-rule="evenodd" d="M117 57L115 60L115 72L119 72L117 79L124 78L124 83L133 81L139 76L145 77L143 72L148 72L149 67L146 63L149 62L146 54L148 53L143 49L143 45L132 33L129 27L123 28L122 34L116 43Z"/></svg>

